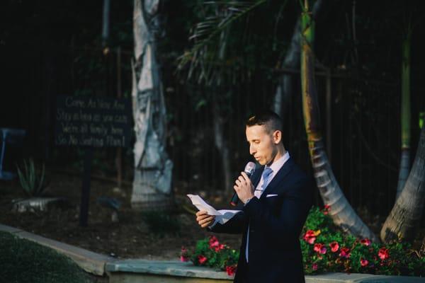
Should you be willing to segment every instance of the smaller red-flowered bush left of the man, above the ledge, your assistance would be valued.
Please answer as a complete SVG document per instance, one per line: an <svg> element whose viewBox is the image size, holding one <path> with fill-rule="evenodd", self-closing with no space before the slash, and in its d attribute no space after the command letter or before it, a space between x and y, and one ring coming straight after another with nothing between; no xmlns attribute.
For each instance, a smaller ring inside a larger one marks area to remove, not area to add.
<svg viewBox="0 0 425 283"><path fill-rule="evenodd" d="M180 255L181 261L191 260L194 265L225 270L227 275L234 275L238 259L239 251L223 245L215 236L198 241L194 253L190 253L186 248L182 247Z"/></svg>

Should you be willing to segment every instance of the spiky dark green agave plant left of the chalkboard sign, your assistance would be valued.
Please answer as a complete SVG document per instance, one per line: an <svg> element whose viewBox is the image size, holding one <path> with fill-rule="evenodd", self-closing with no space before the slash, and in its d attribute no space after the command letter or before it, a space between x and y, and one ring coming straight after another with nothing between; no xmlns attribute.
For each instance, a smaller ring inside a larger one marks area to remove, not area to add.
<svg viewBox="0 0 425 283"><path fill-rule="evenodd" d="M21 187L30 197L39 197L45 191L47 184L45 183L45 165L42 164L41 173L35 170L34 161L32 158L23 161L23 171L16 166L18 170L19 182Z"/></svg>

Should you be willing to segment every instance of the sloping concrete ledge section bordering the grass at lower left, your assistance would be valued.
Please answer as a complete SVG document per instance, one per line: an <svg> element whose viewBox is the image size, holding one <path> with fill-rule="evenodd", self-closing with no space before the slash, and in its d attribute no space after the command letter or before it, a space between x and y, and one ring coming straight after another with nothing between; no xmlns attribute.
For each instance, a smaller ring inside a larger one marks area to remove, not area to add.
<svg viewBox="0 0 425 283"><path fill-rule="evenodd" d="M94 275L106 275L106 262L113 262L115 260L115 258L111 258L106 255L93 253L89 250L84 250L84 248L78 248L76 246L68 245L67 243L55 241L50 238L44 238L33 233L28 233L26 231L13 228L11 226L0 224L0 231L13 233L19 238L25 238L26 240L33 241L35 243L39 243L42 246L47 246L57 250L57 252L62 253L63 255L66 255L67 257L74 260L74 262L77 263L77 265L79 265L79 267L81 267L83 270Z"/></svg>

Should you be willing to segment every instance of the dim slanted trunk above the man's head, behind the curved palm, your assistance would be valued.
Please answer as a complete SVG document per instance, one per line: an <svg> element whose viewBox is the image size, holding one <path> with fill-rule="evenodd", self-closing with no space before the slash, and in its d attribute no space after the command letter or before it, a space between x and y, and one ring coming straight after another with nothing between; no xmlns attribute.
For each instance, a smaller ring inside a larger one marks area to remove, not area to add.
<svg viewBox="0 0 425 283"><path fill-rule="evenodd" d="M319 11L322 11L322 0L317 0L313 6L313 18L316 18ZM300 18L295 23L293 36L290 40L289 49L283 61L283 67L288 69L298 69L300 67ZM293 95L293 76L283 73L280 76L276 93L273 96L273 111L285 120L288 112L290 97Z"/></svg>

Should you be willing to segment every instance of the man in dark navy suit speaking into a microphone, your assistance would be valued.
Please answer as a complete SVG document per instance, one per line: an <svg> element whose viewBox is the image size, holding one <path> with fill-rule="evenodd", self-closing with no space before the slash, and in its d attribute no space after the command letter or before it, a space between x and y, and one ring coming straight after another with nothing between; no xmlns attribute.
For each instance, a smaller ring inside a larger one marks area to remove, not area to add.
<svg viewBox="0 0 425 283"><path fill-rule="evenodd" d="M312 206L312 185L285 150L276 113L250 117L246 140L261 168L251 180L242 172L235 181L242 212L223 225L205 211L196 220L212 232L242 233L234 282L305 282L299 236Z"/></svg>

